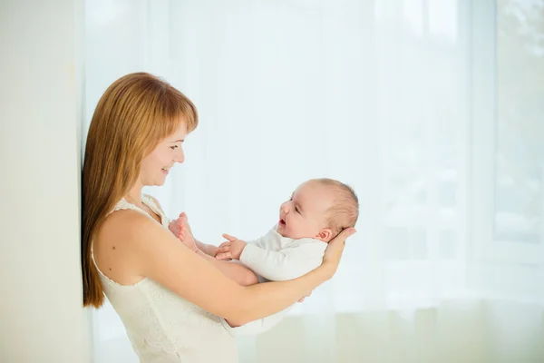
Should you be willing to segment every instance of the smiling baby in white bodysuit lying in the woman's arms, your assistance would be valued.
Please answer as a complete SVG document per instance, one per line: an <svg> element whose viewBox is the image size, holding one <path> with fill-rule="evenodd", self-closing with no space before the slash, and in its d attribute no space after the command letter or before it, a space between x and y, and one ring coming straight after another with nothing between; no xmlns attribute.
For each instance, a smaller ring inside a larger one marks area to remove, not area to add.
<svg viewBox="0 0 544 363"><path fill-rule="evenodd" d="M170 223L170 231L189 248L207 250L220 263L219 270L233 280L241 280L237 275L246 271L238 263L223 260L238 260L257 274L258 282L292 280L321 265L327 243L345 228L355 227L358 215L359 201L351 187L332 179L314 179L296 188L281 205L277 225L257 240L246 242L224 234L228 241L219 248L204 245L194 240L183 214ZM223 325L233 335L257 334L276 325L286 311L241 327Z"/></svg>

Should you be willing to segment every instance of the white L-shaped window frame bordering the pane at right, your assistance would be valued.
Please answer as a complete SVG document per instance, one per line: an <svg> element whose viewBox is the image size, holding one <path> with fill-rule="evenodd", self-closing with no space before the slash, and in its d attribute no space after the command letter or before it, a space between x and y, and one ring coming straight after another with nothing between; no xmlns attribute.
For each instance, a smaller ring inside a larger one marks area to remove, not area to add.
<svg viewBox="0 0 544 363"><path fill-rule="evenodd" d="M468 5L470 24L470 152L468 223L471 257L489 262L539 265L544 243L495 240L495 152L497 140L497 1ZM491 92L490 92L491 90ZM493 135L489 137L489 135Z"/></svg>

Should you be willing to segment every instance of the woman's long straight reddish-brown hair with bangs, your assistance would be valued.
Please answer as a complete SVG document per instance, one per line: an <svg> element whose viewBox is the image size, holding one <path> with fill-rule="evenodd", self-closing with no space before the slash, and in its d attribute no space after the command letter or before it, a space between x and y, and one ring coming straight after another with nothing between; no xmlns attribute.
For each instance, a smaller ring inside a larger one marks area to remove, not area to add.
<svg viewBox="0 0 544 363"><path fill-rule="evenodd" d="M115 204L134 186L141 160L180 125L193 131L198 113L185 95L151 74L128 74L102 95L92 115L83 161L83 306L104 296L92 261L92 239Z"/></svg>

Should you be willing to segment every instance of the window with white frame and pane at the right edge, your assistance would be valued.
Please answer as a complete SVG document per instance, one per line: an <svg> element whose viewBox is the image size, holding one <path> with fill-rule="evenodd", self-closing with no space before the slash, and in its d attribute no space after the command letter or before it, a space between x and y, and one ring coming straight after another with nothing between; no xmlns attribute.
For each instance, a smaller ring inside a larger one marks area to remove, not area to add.
<svg viewBox="0 0 544 363"><path fill-rule="evenodd" d="M472 237L480 245L477 257L538 264L544 231L544 2L499 0L489 9L474 12L481 35L472 46L472 151L485 166L472 170ZM486 87L494 93L481 93ZM490 200L492 208L481 207Z"/></svg>

